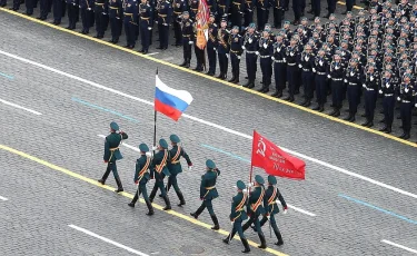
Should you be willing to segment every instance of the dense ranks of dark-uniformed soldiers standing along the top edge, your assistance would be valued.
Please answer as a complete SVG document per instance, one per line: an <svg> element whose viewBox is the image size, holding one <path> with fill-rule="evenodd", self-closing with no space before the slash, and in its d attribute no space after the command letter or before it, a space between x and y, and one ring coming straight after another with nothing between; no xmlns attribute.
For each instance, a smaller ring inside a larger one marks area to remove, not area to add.
<svg viewBox="0 0 417 256"><path fill-rule="evenodd" d="M14 0L17 3L20 1ZM26 0L28 14L32 13L36 1ZM54 0L53 4L50 0L39 1L39 18L46 19L53 6L54 23L60 23L64 7L62 0ZM346 17L336 22L331 1L326 16L328 22L322 23L317 17L317 1L314 0L314 22L309 24L307 18L296 16L294 23L298 26L292 30L288 21L281 26L288 1L208 0L211 14L206 47L207 75L215 76L218 63L220 73L217 77L226 79L230 62L232 77L229 81L238 83L240 59L245 55L248 82L244 87L254 88L259 59L262 76L260 92L269 91L274 75L274 97L282 97L284 89L288 88L285 99L292 102L302 88L301 105L309 107L315 99L317 106L314 109L324 111L327 96L331 95L332 111L329 115L339 117L342 102L347 100L349 115L345 120L348 121L355 121L358 105L364 101L366 121L363 126L366 127L374 126L375 109L380 98L384 107L381 121L385 122L380 131L391 132L395 109L399 108L403 121L400 138L408 139L416 104L417 3L400 0L394 4L391 0L384 3L370 0L366 1L366 11L360 10L357 17L347 11ZM141 3L137 0L67 0L68 29L76 28L80 8L81 32L88 33L96 23L96 37L103 38L110 20L111 42L119 41L123 27L126 47L133 48L140 35L140 51L147 53L153 23L158 23L158 49L168 48L169 27L173 23L173 45L183 49L180 66L190 67L195 46L195 70L203 71L206 51L196 46L198 3L199 0L141 0ZM304 1L294 8L301 8L302 14L305 6ZM351 9L350 3L348 6L348 10ZM278 29L276 33L267 23L270 7L274 9L274 27ZM18 8L13 6L13 9ZM257 26L252 22L254 12L257 13Z"/></svg>

